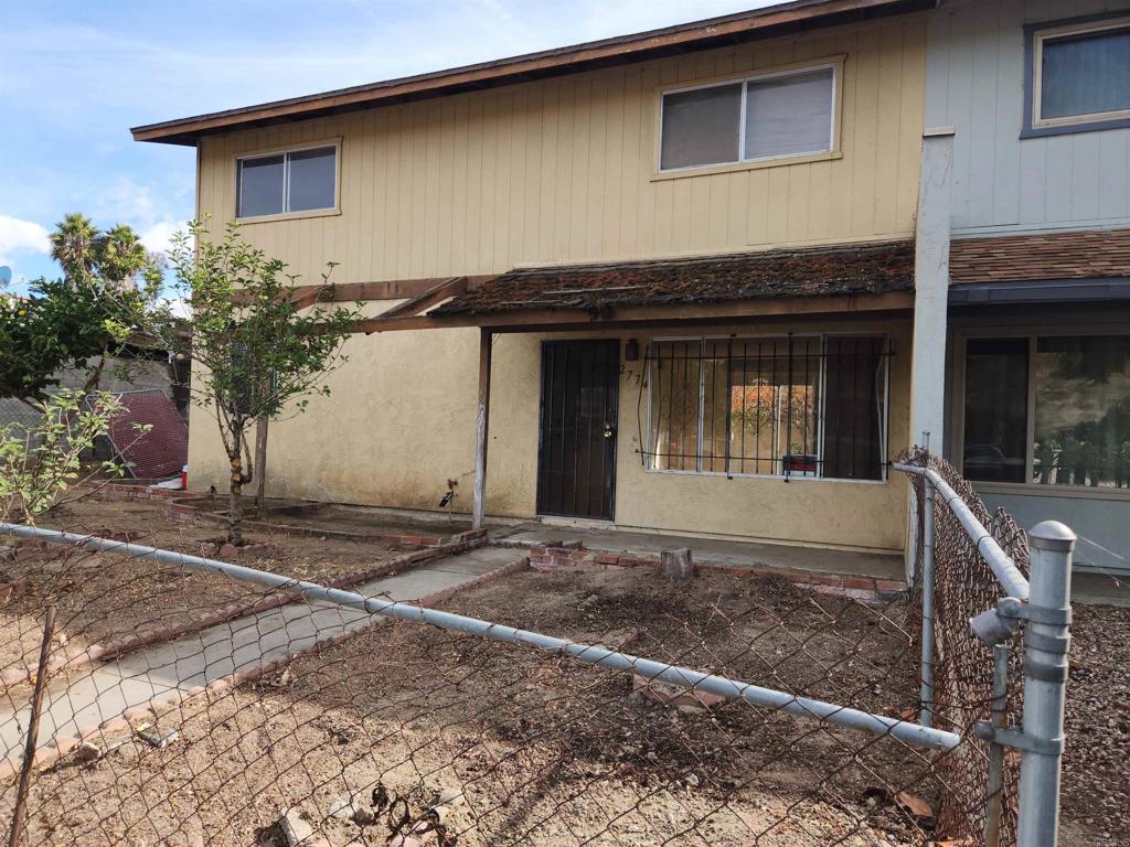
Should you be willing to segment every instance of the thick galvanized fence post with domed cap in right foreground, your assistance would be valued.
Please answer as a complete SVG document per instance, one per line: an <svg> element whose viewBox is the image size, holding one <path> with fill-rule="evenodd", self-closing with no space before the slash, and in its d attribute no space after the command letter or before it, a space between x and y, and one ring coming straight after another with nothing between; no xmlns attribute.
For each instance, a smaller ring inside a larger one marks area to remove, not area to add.
<svg viewBox="0 0 1130 847"><path fill-rule="evenodd" d="M1076 536L1057 521L1028 533L1031 592L1024 628L1024 758L1020 761L1019 847L1058 842L1060 760L1068 629L1071 619L1071 551Z"/></svg>

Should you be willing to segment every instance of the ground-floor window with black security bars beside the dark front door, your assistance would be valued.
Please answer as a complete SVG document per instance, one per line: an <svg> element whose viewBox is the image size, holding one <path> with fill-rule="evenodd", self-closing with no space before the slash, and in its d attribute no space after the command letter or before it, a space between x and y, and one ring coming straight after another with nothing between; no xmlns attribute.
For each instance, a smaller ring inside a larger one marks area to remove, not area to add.
<svg viewBox="0 0 1130 847"><path fill-rule="evenodd" d="M647 358L650 470L884 478L886 338L672 339Z"/></svg>

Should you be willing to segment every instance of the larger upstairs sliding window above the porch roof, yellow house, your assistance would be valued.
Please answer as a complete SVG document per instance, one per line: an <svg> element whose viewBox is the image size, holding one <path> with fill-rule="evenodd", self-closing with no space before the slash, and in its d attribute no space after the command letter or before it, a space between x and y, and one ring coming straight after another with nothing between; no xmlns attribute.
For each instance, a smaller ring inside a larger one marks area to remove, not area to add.
<svg viewBox="0 0 1130 847"><path fill-rule="evenodd" d="M837 63L664 91L660 171L831 154Z"/></svg>

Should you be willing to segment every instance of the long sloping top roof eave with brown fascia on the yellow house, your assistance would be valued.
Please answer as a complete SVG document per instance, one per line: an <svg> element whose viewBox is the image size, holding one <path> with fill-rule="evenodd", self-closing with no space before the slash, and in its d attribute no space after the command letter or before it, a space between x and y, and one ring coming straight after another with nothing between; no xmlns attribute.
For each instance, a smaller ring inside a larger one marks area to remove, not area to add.
<svg viewBox="0 0 1130 847"><path fill-rule="evenodd" d="M202 136L442 97L932 8L936 0L798 0L692 24L542 50L323 94L134 126L134 141L195 145Z"/></svg>

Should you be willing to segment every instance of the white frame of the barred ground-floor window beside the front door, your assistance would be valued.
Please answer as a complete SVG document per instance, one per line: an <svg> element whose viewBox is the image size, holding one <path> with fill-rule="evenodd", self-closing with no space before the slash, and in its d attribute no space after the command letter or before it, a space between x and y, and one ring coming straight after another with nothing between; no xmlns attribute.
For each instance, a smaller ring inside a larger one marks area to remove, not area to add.
<svg viewBox="0 0 1130 847"><path fill-rule="evenodd" d="M811 333L791 333L793 339L818 339L820 342L820 351L818 356L820 357L820 370L817 376L817 391L818 394L818 405L817 405L817 420L816 420L816 462L817 468L824 466L824 431L825 431L825 394L827 393L827 340L829 338L881 338L889 350L890 337L884 332L811 332ZM645 473L671 473L684 477L725 477L727 479L766 479L766 480L788 480L789 482L797 482L800 480L807 482L840 482L860 486L884 486L887 483L887 465L889 464L889 456L887 453L887 447L890 437L890 356L889 352L885 352L884 357L886 359L885 366L883 368L883 420L879 421L879 455L883 457L879 462L879 479L849 479L846 477L822 477L819 472L816 475L807 475L803 473L733 473L729 469L724 471L704 471L702 469L703 461L703 403L705 400L705 392L703 391L705 381L705 368L698 368L698 433L697 433L697 459L698 469L693 471L685 471L679 469L666 469L666 468L652 468L651 460L647 456L647 452L651 449L652 445L652 427L654 425L654 417L652 416L652 399L654 398L654 385L651 378L651 367L654 359L651 359L651 347L652 344L659 344L663 342L688 342L698 341L705 348L709 341L771 341L777 339L788 339L790 333L779 332L779 333L757 333L754 335L733 335L733 334L721 334L721 335L662 335L649 340L647 343L647 361L646 361L646 374L645 379L647 382L647 427L645 429L646 440L642 446L644 453L644 472ZM701 349L703 349L701 348ZM777 460L768 460L777 461Z"/></svg>

